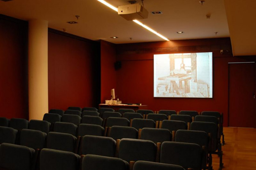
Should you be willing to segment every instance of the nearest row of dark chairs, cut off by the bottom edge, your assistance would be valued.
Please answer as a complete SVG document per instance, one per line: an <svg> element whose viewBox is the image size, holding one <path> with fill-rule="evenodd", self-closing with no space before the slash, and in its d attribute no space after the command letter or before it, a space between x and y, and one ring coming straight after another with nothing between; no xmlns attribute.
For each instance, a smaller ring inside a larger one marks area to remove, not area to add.
<svg viewBox="0 0 256 170"><path fill-rule="evenodd" d="M15 155L15 156L14 156ZM120 158L77 155L53 149L33 150L8 143L0 145L0 168L15 170L184 170L171 164L137 161L132 168Z"/></svg>

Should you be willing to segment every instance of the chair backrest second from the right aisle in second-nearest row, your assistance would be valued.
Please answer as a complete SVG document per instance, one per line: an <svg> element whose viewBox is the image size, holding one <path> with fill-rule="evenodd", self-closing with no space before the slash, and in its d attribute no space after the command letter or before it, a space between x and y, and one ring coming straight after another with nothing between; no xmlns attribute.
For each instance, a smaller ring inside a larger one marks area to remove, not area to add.
<svg viewBox="0 0 256 170"><path fill-rule="evenodd" d="M123 138L119 143L119 158L130 162L137 160L156 161L156 144L150 140Z"/></svg>

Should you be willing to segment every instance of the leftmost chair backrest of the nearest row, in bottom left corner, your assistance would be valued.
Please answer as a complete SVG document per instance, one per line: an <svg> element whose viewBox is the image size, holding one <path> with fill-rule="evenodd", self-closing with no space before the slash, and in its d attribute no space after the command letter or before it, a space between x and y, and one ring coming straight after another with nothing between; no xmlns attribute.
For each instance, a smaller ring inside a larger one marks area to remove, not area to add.
<svg viewBox="0 0 256 170"><path fill-rule="evenodd" d="M34 152L32 148L3 143L0 146L0 169L29 170Z"/></svg>

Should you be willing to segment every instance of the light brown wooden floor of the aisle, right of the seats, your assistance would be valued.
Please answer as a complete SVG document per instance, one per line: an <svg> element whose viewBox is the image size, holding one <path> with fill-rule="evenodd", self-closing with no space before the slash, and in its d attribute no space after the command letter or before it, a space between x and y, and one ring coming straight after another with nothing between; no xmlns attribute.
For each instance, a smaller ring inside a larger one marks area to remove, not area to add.
<svg viewBox="0 0 256 170"><path fill-rule="evenodd" d="M224 170L256 170L256 129L224 128ZM219 159L213 155L213 169L218 170Z"/></svg>

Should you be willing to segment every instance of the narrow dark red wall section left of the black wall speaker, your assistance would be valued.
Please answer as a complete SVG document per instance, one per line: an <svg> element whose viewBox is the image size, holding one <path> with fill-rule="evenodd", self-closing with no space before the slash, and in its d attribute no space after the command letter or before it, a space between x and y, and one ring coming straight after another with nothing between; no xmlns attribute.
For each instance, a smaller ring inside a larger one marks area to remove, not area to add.
<svg viewBox="0 0 256 170"><path fill-rule="evenodd" d="M111 89L116 89L116 71L114 63L116 62L115 44L107 41L100 41L101 56L101 103L111 99ZM117 96L115 92L115 96ZM117 96L119 97L119 96Z"/></svg>

